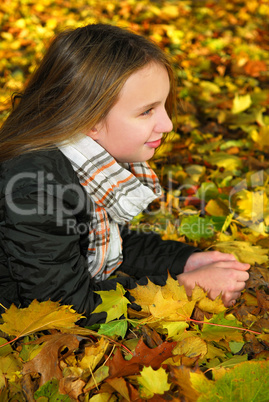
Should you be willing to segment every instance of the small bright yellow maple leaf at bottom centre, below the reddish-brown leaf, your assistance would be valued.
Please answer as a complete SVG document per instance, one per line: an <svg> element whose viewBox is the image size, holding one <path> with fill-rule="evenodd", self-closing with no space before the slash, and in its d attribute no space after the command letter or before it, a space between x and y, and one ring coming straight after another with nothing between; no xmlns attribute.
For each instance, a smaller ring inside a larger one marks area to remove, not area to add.
<svg viewBox="0 0 269 402"><path fill-rule="evenodd" d="M141 376L137 377L140 385L140 396L142 398L152 398L155 394L164 394L169 391L168 374L160 367L158 370L153 370L152 367L143 367Z"/></svg>

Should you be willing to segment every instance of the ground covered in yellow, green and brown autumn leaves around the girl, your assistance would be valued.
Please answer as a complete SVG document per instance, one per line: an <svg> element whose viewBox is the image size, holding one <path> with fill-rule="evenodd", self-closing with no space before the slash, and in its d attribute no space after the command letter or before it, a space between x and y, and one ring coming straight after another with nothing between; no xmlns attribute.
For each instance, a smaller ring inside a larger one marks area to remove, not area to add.
<svg viewBox="0 0 269 402"><path fill-rule="evenodd" d="M91 329L57 303L12 307L0 326L1 402L269 400L268 18L268 0L2 0L1 120L66 27L129 27L171 55L178 128L152 161L164 197L132 227L251 269L231 309L199 288L188 298L171 278L133 291L140 311L121 287L105 292L107 322Z"/></svg>

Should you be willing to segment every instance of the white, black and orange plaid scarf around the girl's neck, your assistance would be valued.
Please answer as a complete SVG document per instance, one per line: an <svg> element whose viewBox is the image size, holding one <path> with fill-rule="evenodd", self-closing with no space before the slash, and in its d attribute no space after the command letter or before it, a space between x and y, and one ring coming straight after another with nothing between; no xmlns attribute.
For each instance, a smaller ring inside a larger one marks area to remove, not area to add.
<svg viewBox="0 0 269 402"><path fill-rule="evenodd" d="M118 224L143 211L161 194L158 178L147 162L122 163L85 135L60 146L70 160L92 204L88 269L96 281L108 278L122 263Z"/></svg>

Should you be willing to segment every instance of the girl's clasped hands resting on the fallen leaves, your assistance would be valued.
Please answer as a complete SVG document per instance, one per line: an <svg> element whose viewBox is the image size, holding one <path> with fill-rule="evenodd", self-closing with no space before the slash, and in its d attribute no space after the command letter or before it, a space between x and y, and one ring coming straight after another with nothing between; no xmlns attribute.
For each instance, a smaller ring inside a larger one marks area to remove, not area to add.
<svg viewBox="0 0 269 402"><path fill-rule="evenodd" d="M200 255L201 257L201 254L203 253L197 253L197 256ZM204 254L210 254L210 252ZM224 258L227 258L226 260L215 260L215 262L208 264L205 264L208 258L208 261L210 261L211 257L218 259L219 256L206 255L204 260L202 258L203 263L194 259L194 261L191 261L192 264L189 265L192 269L184 271L183 274L177 276L178 282L185 286L188 295L191 295L192 289L197 284L207 291L208 296L213 300L222 294L222 300L226 307L232 306L235 303L249 278L249 274L246 271L250 268L250 265L242 264L236 261L235 258L229 259L227 257L229 254L225 255L226 257ZM201 264L203 265L201 266Z"/></svg>

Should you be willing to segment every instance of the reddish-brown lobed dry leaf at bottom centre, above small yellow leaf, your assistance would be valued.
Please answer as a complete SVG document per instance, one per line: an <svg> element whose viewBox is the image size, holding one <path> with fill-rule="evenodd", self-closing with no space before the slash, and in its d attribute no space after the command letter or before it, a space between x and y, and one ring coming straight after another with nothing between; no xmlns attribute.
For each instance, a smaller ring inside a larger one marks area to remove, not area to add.
<svg viewBox="0 0 269 402"><path fill-rule="evenodd" d="M130 360L124 360L121 351L117 349L113 358L106 363L109 367L109 378L138 374L142 366L158 369L162 362L173 356L172 350L175 346L176 342L163 342L160 346L150 349L140 339Z"/></svg>

